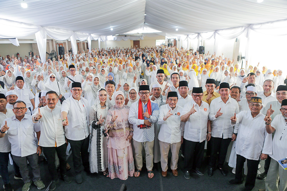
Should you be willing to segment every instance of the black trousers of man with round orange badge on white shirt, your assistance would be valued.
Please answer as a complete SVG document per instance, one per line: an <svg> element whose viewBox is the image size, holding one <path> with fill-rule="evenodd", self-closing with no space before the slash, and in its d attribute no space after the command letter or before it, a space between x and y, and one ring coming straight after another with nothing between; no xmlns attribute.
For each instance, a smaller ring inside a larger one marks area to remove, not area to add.
<svg viewBox="0 0 287 191"><path fill-rule="evenodd" d="M183 170L190 171L191 169L201 168L205 141L199 143L186 139L183 140L185 141Z"/></svg>

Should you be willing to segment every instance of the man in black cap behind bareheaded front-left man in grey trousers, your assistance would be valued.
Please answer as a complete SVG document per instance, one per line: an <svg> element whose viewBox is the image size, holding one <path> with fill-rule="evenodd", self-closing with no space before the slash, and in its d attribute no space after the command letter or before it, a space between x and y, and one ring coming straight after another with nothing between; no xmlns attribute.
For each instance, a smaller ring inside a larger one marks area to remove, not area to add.
<svg viewBox="0 0 287 191"><path fill-rule="evenodd" d="M18 100L26 103L27 109L30 110L30 115L32 115L32 111L35 109L35 96L30 89L24 87L24 78L22 76L16 77L16 87L12 86L10 90L15 90Z"/></svg>

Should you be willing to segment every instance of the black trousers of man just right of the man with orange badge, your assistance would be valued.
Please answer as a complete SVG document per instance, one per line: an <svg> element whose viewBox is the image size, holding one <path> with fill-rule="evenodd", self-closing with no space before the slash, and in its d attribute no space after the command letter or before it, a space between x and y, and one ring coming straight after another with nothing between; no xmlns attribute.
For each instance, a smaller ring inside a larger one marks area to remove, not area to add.
<svg viewBox="0 0 287 191"><path fill-rule="evenodd" d="M226 158L228 146L231 142L231 138L223 139L223 137L222 138L211 137L209 142L211 144L211 155L208 166L210 168L215 168L217 153L219 152L218 168L223 168L223 164Z"/></svg>

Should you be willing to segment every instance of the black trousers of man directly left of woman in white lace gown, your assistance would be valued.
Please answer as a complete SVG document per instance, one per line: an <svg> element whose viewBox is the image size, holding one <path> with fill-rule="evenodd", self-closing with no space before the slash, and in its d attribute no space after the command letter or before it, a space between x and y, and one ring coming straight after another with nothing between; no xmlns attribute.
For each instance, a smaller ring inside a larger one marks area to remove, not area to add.
<svg viewBox="0 0 287 191"><path fill-rule="evenodd" d="M71 150L73 154L73 163L74 163L74 169L76 174L81 174L82 172L82 162L85 170L90 170L90 164L89 164L89 141L90 141L90 135L79 141L73 141L69 139L69 143L71 144ZM82 157L82 162L81 162Z"/></svg>

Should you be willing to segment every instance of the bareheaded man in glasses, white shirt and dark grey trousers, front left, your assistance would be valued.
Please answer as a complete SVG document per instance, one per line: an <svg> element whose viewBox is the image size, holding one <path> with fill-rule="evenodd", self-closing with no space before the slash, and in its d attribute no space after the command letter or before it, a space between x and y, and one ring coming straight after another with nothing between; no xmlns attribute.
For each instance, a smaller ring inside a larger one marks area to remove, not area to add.
<svg viewBox="0 0 287 191"><path fill-rule="evenodd" d="M17 101L14 104L14 115L7 118L2 123L0 138L6 134L11 143L11 154L13 160L19 166L20 173L24 181L22 191L28 191L32 180L29 176L29 166L32 168L33 182L38 189L43 189L45 186L41 181L40 167L38 165L38 155L41 154L41 148L38 146L35 139L35 133L39 140L40 129L36 129L33 125L31 115L25 115L27 111L26 104L23 101Z"/></svg>

